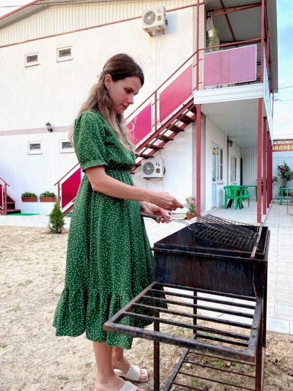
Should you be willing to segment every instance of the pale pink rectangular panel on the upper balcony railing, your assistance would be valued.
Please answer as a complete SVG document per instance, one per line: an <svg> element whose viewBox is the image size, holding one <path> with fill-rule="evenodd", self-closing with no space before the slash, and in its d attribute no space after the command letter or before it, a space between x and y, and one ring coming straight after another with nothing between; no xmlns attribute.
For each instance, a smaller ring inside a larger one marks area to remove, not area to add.
<svg viewBox="0 0 293 391"><path fill-rule="evenodd" d="M256 80L256 45L203 55L203 87Z"/></svg>

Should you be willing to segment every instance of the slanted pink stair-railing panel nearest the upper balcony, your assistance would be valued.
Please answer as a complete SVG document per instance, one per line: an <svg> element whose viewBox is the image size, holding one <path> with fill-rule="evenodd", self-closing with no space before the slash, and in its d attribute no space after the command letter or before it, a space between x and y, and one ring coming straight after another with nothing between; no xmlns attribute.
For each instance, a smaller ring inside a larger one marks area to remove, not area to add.
<svg viewBox="0 0 293 391"><path fill-rule="evenodd" d="M192 65L160 93L160 122L192 96Z"/></svg>

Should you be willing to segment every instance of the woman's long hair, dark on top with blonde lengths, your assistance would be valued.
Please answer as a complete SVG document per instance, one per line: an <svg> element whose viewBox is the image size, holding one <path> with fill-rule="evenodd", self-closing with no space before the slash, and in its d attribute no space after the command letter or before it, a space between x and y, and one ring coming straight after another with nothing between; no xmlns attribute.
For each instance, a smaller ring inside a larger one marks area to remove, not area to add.
<svg viewBox="0 0 293 391"><path fill-rule="evenodd" d="M128 54L115 54L103 67L98 82L92 87L89 97L82 104L77 117L87 110L99 111L104 119L116 133L121 145L130 152L134 152L134 145L130 139L129 130L126 126L123 114L115 114L113 101L105 86L105 76L110 74L113 81L125 79L126 77L138 76L141 86L144 83L143 71ZM71 127L68 138L73 145L74 126Z"/></svg>

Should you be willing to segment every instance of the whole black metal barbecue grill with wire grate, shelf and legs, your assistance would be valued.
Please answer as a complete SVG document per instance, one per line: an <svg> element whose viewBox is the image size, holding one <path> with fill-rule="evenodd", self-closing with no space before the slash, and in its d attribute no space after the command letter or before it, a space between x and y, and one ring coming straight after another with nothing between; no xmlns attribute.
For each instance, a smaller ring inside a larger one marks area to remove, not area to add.
<svg viewBox="0 0 293 391"><path fill-rule="evenodd" d="M173 385L208 391L215 384L223 388L212 389L263 389L270 232L228 222L235 240L227 243L211 239L220 223L199 219L157 241L154 282L104 324L106 331L154 341L154 391L160 389L160 342L185 348L164 391ZM250 231L245 245L235 228ZM139 314L142 308L152 316ZM120 324L125 317L153 321L154 330ZM219 360L229 367L216 365Z"/></svg>

